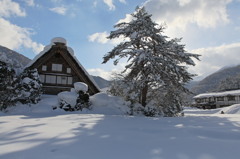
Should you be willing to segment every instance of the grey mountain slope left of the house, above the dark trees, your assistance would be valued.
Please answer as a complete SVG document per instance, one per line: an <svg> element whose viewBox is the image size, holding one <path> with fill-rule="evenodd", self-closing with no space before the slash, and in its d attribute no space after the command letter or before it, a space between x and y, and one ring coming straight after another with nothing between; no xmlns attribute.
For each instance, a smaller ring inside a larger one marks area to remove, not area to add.
<svg viewBox="0 0 240 159"><path fill-rule="evenodd" d="M0 45L0 60L11 64L14 68L23 68L31 60L16 51Z"/></svg>

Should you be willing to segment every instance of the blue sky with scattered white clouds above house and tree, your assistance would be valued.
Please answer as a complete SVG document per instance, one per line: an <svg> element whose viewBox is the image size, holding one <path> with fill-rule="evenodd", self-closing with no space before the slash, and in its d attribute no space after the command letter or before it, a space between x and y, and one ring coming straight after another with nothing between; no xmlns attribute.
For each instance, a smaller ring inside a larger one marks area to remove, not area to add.
<svg viewBox="0 0 240 159"><path fill-rule="evenodd" d="M33 59L54 37L64 37L90 74L109 78L122 61L101 64L119 40L106 36L144 5L170 38L182 37L202 55L191 73L201 77L240 64L240 0L0 0L0 45Z"/></svg>

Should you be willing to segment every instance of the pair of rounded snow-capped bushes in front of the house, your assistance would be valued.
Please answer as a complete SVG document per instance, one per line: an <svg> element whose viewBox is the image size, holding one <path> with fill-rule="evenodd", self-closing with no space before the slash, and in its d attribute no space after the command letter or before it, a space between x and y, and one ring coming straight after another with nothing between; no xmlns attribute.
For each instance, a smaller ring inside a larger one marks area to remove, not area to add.
<svg viewBox="0 0 240 159"><path fill-rule="evenodd" d="M59 108L65 111L78 111L83 108L90 108L88 86L82 82L74 83L70 92L64 91L58 94Z"/></svg>

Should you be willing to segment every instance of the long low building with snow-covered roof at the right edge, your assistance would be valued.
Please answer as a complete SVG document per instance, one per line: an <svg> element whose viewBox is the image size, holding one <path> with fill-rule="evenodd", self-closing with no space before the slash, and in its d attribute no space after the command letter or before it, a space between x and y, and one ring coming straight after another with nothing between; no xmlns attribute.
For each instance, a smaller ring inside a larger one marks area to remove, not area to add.
<svg viewBox="0 0 240 159"><path fill-rule="evenodd" d="M240 90L203 93L193 97L195 106L214 109L240 103Z"/></svg>

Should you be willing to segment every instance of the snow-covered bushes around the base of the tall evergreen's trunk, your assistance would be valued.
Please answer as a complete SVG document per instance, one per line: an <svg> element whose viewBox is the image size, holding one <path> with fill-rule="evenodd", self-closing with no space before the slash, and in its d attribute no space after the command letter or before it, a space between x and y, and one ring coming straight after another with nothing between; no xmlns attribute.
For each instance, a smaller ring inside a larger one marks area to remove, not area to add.
<svg viewBox="0 0 240 159"><path fill-rule="evenodd" d="M174 87L148 88L147 105L144 107L139 102L140 84L137 81L126 81L122 78L115 79L108 93L114 96L122 97L128 101L129 115L143 114L145 116L180 116L182 114L182 96L181 90Z"/></svg>

